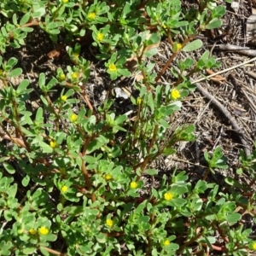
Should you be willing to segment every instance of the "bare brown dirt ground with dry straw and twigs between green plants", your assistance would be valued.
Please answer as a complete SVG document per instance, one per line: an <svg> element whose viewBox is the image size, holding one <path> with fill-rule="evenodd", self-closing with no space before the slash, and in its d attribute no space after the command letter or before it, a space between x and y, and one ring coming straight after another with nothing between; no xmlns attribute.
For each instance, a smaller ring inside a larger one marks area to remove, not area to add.
<svg viewBox="0 0 256 256"><path fill-rule="evenodd" d="M252 0L253 2L253 0ZM204 90L213 96L226 111L230 113L232 119L236 120L240 127L240 133L244 136L246 144L241 143L241 136L235 131L224 113L223 109L204 96L201 91L195 90L186 99L183 100L181 112L176 114L173 119L173 130L184 123L195 125L194 143L179 143L177 145L177 154L167 158L162 158L154 163L161 172L170 173L175 167L178 170L185 170L191 173L195 178L201 178L206 171L206 162L203 153L211 153L215 148L223 148L224 155L228 158L229 169L218 170L210 178L219 185L224 184L224 177L233 177L239 165L238 156L241 148L252 150L253 142L256 141L256 61L235 67L245 61L253 59L256 56L245 55L243 51L236 49L232 51L222 49L220 45L232 44L249 49L256 50L256 44L252 40L252 32L247 32L247 20L253 14L254 7L250 0L241 0L237 4L227 4L227 13L223 19L223 26L220 29L211 32L202 32L199 38L203 41L203 48L193 52L193 54L181 54L179 58L190 57L198 60L202 53L207 49L212 52L222 66L214 69L213 72L224 71L220 78L208 79L199 82ZM225 3L223 3L225 4ZM184 8L189 8L189 3L184 3ZM256 7L255 7L256 8ZM255 19L256 26L256 19ZM251 38L250 38L251 37ZM248 44L250 43L250 44ZM22 78L13 81L18 84L20 79L29 79L35 92L32 93L31 108L36 110L39 104L40 91L38 90L38 75L46 73L55 75L58 67L65 68L72 65L68 55L64 51L59 52L59 45L52 43L48 35L38 28L32 32L32 36L26 39L26 45L21 49L9 49L3 58L15 56L19 60L19 66L23 69ZM90 102L98 106L106 98L113 97L115 107L119 113L126 113L131 110L129 91L133 91L134 78L118 79L111 81L104 68L102 61L97 61L95 49L90 45L82 47L82 56L90 61L91 75L88 84L86 84L87 95L90 96ZM241 54L243 53L243 54ZM165 65L168 57L172 54L171 49L165 39L160 43L159 54L154 56L157 65L156 72ZM210 73L205 73L208 75ZM254 74L254 77L253 77ZM195 77L193 79L200 79ZM163 82L172 80L172 74L164 74ZM0 84L1 85L1 84ZM53 95L54 96L54 95ZM156 181L157 182L157 181ZM148 187L150 181L148 180Z"/></svg>

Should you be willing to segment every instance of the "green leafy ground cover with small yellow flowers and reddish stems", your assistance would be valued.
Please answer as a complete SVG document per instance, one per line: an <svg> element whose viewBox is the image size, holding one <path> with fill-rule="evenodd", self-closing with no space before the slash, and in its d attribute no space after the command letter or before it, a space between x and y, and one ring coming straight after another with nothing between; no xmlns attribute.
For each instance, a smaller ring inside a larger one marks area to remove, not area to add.
<svg viewBox="0 0 256 256"><path fill-rule="evenodd" d="M256 250L243 219L255 215L253 148L249 156L241 148L224 191L207 179L229 166L220 147L205 152L201 179L192 181L175 166L166 176L152 165L175 154L178 142L196 140L194 125L172 127L172 119L196 89L189 78L221 63L209 51L198 60L178 56L201 49L195 37L220 27L224 14L224 4L212 0L189 9L179 0L1 1L2 54L21 49L37 28L64 45L72 64L38 74L40 102L32 111L30 81L12 83L23 73L17 58L0 56L0 255L238 256ZM157 72L154 55L163 38L172 55ZM132 114L117 112L111 94L98 106L90 102L86 40L110 81L141 74L130 97ZM167 67L173 81L161 84Z"/></svg>

